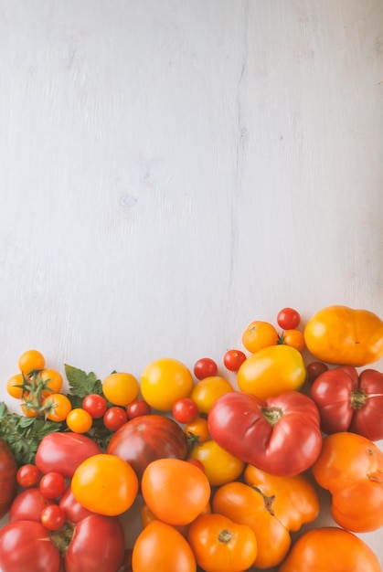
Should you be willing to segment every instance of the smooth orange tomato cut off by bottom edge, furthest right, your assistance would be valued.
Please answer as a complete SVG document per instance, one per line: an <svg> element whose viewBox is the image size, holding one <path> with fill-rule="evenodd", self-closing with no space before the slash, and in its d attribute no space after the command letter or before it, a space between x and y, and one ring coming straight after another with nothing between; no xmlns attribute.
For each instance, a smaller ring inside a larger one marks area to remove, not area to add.
<svg viewBox="0 0 383 572"><path fill-rule="evenodd" d="M278 572L381 572L378 557L356 535L327 526L304 533Z"/></svg>

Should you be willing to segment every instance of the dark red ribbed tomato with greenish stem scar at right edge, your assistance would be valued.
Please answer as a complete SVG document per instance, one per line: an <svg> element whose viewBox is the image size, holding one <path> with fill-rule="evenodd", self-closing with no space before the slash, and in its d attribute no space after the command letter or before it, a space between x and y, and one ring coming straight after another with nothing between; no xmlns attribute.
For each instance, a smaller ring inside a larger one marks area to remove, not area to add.
<svg viewBox="0 0 383 572"><path fill-rule="evenodd" d="M321 428L331 434L350 430L369 440L383 439L383 374L339 365L318 376L311 397L321 416Z"/></svg>

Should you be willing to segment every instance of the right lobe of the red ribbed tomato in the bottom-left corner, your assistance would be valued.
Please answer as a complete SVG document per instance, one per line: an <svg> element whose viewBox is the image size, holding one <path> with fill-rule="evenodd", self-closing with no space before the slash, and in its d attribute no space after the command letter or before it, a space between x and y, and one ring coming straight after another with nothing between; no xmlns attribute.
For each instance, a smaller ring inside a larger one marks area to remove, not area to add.
<svg viewBox="0 0 383 572"><path fill-rule="evenodd" d="M65 572L116 572L122 565L125 538L117 517L91 514L78 524L65 555Z"/></svg>

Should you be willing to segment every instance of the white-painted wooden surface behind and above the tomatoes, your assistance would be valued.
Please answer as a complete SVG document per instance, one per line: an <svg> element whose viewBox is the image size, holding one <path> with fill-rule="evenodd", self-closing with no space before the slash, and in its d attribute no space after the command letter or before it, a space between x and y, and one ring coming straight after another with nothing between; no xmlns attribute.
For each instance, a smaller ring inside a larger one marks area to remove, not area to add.
<svg viewBox="0 0 383 572"><path fill-rule="evenodd" d="M0 55L10 408L31 347L140 376L286 305L383 316L382 0L0 0Z"/></svg>

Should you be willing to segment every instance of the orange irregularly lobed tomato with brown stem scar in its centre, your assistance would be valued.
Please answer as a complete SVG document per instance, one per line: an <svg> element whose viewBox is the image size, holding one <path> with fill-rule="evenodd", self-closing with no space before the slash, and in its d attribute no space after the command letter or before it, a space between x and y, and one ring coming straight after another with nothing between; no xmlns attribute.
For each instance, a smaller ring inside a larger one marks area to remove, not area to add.
<svg viewBox="0 0 383 572"><path fill-rule="evenodd" d="M215 513L250 526L258 541L254 566L277 566L292 544L291 533L319 514L319 497L304 474L277 477L248 465L244 482L218 488L212 501Z"/></svg>

